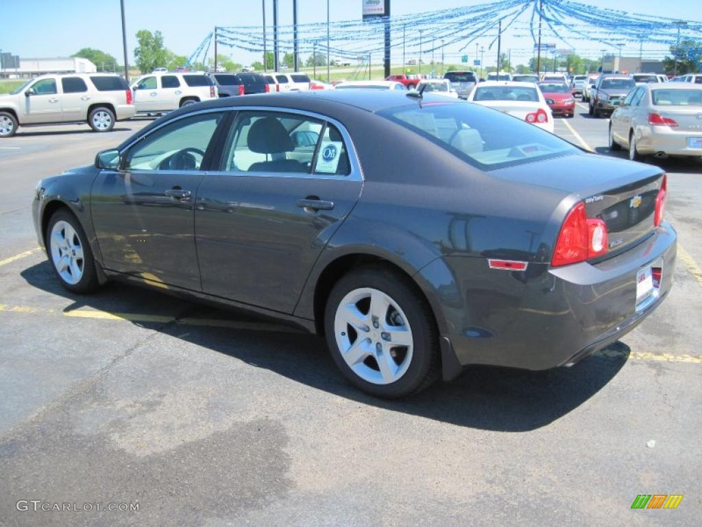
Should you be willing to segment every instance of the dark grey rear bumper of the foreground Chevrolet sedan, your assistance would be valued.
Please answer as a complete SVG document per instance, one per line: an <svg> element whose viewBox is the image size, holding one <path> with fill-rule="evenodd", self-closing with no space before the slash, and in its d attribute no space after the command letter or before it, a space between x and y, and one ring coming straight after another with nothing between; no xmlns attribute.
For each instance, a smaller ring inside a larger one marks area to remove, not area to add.
<svg viewBox="0 0 702 527"><path fill-rule="evenodd" d="M667 296L673 282L677 235L668 224L633 249L591 265L551 268L529 263L527 271L489 269L485 259L448 256L423 269L437 284L446 337L461 365L484 364L547 370L572 365L633 330ZM636 306L636 275L663 261L657 297ZM449 377L445 375L445 377Z"/></svg>

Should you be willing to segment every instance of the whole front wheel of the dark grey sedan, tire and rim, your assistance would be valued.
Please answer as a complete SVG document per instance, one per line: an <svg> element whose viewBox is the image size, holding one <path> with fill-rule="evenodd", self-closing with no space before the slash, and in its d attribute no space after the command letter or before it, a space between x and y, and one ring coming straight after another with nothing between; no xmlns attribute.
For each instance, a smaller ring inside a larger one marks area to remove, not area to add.
<svg viewBox="0 0 702 527"><path fill-rule="evenodd" d="M53 272L63 287L74 293L98 287L93 252L76 216L66 209L55 212L46 228L46 245Z"/></svg>

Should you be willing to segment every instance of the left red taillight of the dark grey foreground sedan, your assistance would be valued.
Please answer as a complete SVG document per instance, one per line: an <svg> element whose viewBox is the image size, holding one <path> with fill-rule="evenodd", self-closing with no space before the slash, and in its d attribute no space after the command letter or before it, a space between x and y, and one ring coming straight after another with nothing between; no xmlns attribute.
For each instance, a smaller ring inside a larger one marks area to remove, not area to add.
<svg viewBox="0 0 702 527"><path fill-rule="evenodd" d="M607 252L609 236L607 225L598 218L585 215L585 203L573 207L561 227L553 249L552 266L578 263Z"/></svg>

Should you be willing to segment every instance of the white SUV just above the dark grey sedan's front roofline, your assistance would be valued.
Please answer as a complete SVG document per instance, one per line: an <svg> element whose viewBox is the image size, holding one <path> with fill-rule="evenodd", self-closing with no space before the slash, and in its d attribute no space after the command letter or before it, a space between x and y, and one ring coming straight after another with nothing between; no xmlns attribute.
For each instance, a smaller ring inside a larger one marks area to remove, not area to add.
<svg viewBox="0 0 702 527"><path fill-rule="evenodd" d="M136 79L131 88L139 113L170 112L217 97L217 86L204 73L154 72Z"/></svg>

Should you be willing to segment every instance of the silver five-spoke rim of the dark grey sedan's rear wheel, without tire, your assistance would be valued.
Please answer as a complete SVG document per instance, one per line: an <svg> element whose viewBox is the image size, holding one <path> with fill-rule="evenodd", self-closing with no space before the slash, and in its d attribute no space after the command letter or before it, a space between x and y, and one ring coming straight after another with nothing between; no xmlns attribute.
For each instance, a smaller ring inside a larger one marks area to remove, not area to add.
<svg viewBox="0 0 702 527"><path fill-rule="evenodd" d="M349 292L336 308L334 332L346 364L366 382L391 384L411 364L409 320L397 301L378 289Z"/></svg>

